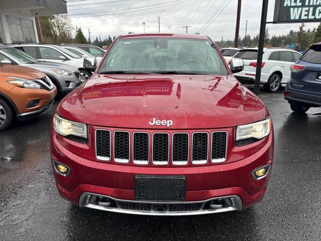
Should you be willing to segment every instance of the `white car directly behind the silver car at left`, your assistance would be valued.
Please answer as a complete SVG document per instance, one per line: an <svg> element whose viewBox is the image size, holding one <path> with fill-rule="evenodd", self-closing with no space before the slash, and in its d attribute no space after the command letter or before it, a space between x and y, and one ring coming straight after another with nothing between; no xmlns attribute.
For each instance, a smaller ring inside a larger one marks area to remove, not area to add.
<svg viewBox="0 0 321 241"><path fill-rule="evenodd" d="M83 83L91 76L90 71L84 69L84 58L64 49L49 44L11 44L11 47L22 50L40 61L50 61L70 65L79 69L79 79Z"/></svg>

